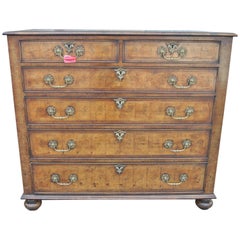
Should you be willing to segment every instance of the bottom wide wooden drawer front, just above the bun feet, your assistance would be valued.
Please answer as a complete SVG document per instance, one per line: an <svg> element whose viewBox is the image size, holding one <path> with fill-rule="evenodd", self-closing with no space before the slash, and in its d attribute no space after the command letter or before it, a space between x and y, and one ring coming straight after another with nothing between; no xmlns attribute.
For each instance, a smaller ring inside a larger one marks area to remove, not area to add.
<svg viewBox="0 0 240 240"><path fill-rule="evenodd" d="M202 191L205 165L33 164L35 192Z"/></svg>

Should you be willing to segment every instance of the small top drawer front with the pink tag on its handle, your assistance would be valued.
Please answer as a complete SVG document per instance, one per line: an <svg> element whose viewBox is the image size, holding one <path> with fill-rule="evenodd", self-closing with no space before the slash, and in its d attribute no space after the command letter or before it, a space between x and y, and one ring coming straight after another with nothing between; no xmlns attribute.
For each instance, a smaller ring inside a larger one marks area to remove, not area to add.
<svg viewBox="0 0 240 240"><path fill-rule="evenodd" d="M22 62L64 62L66 56L76 62L118 61L118 41L33 40L21 41L20 47Z"/></svg>

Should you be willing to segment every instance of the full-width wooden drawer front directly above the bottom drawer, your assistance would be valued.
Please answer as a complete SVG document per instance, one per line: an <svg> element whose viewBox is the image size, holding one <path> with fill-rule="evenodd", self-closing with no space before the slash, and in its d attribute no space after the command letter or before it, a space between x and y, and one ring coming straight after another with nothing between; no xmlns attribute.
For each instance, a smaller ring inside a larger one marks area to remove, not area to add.
<svg viewBox="0 0 240 240"><path fill-rule="evenodd" d="M208 131L32 131L33 157L207 156Z"/></svg>

